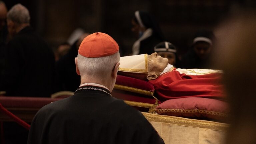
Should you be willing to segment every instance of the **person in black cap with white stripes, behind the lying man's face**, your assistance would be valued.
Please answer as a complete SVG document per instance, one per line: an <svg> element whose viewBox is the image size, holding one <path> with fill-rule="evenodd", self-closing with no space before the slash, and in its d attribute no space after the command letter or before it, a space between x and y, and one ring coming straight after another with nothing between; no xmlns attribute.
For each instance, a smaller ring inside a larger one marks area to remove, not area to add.
<svg viewBox="0 0 256 144"><path fill-rule="evenodd" d="M160 42L154 47L154 51L157 52L158 55L168 58L169 64L179 67L180 60L177 56L177 48L169 42Z"/></svg>

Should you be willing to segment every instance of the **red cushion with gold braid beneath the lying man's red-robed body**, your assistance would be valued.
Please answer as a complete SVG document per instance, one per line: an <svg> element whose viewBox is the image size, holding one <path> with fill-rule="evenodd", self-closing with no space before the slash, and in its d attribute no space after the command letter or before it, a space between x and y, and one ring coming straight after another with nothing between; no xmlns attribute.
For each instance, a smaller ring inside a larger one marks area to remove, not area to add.
<svg viewBox="0 0 256 144"><path fill-rule="evenodd" d="M228 113L226 102L209 98L179 98L170 99L156 108L161 115L186 118L225 121Z"/></svg>

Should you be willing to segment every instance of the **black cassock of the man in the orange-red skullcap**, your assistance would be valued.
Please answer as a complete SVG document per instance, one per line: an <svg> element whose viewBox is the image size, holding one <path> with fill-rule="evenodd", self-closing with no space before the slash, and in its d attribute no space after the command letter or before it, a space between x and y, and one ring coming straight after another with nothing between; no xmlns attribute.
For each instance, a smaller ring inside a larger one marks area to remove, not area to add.
<svg viewBox="0 0 256 144"><path fill-rule="evenodd" d="M107 89L80 87L35 115L28 144L163 144L142 115Z"/></svg>

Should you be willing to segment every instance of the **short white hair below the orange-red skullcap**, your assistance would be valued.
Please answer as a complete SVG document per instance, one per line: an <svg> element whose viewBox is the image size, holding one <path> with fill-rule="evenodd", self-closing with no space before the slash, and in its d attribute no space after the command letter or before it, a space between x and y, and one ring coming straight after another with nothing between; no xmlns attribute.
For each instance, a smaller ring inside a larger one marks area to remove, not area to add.
<svg viewBox="0 0 256 144"><path fill-rule="evenodd" d="M88 58L80 54L77 55L77 65L81 78L90 76L93 78L104 78L114 69L120 61L119 52L105 57Z"/></svg>

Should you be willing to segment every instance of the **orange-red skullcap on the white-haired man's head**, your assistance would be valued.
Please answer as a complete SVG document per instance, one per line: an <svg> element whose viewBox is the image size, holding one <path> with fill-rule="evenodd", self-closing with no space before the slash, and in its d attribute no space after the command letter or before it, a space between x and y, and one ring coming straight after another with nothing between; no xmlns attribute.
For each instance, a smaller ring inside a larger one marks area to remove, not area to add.
<svg viewBox="0 0 256 144"><path fill-rule="evenodd" d="M116 41L105 33L93 33L84 38L78 53L84 57L104 57L119 51Z"/></svg>

